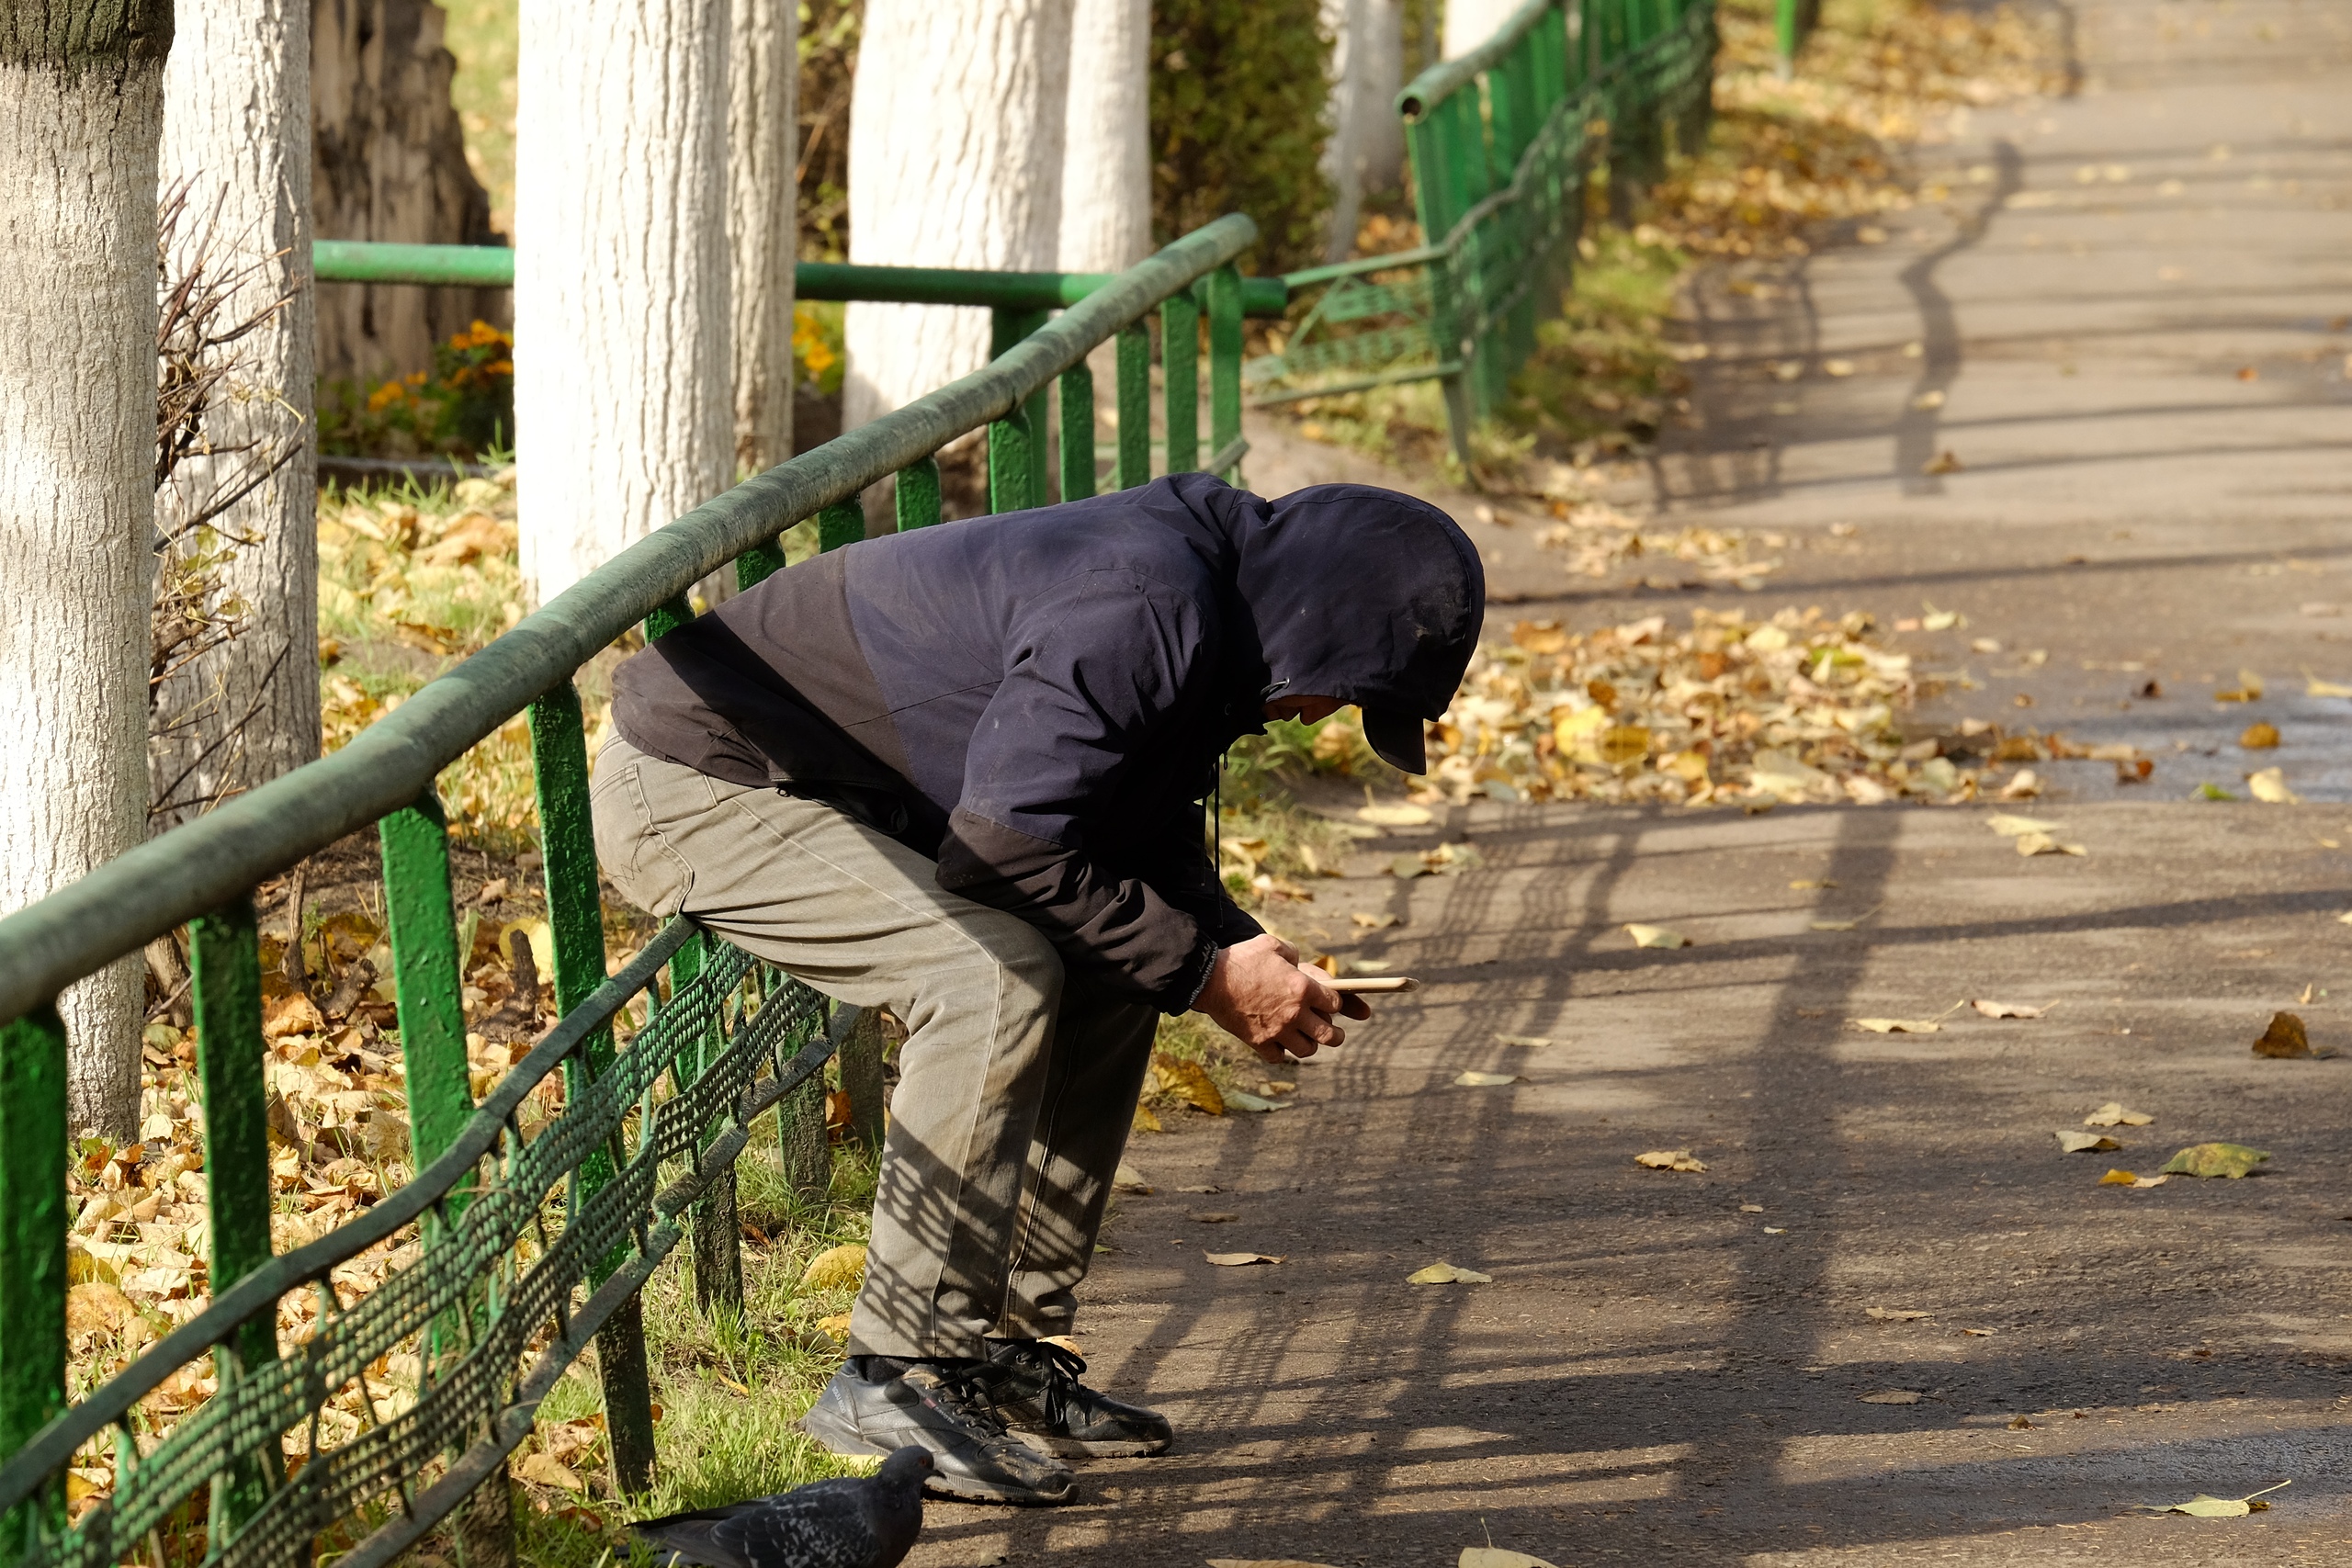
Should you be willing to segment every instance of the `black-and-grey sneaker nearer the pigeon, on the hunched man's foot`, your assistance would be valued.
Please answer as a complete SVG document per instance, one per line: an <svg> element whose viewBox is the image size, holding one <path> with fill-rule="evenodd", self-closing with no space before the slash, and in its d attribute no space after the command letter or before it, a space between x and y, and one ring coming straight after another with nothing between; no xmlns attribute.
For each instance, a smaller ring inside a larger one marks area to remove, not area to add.
<svg viewBox="0 0 2352 1568"><path fill-rule="evenodd" d="M924 1490L969 1502L1068 1502L1070 1467L1004 1432L990 1401L1004 1373L988 1361L866 1356L833 1382L800 1429L842 1455L929 1448Z"/></svg>

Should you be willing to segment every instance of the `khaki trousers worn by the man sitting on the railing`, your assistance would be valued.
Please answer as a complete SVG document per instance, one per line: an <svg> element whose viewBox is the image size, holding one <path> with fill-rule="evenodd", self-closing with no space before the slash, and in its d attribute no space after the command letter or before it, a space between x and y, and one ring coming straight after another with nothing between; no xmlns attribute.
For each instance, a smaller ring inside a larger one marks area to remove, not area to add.
<svg viewBox="0 0 2352 1568"><path fill-rule="evenodd" d="M597 858L654 914L856 1006L898 1051L851 1354L978 1356L1068 1333L1127 1147L1155 1011L1065 976L1035 926L941 891L936 863L833 806L597 755Z"/></svg>

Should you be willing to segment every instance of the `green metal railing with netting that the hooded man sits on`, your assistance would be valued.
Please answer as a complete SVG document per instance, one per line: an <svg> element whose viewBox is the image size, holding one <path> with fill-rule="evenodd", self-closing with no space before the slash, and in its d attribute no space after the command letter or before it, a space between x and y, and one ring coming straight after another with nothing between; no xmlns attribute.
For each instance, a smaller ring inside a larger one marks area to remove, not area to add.
<svg viewBox="0 0 2352 1568"><path fill-rule="evenodd" d="M327 1540L350 1544L341 1568L376 1568L480 1483L503 1483L503 1458L590 1340L614 1469L623 1490L642 1490L654 1429L635 1293L691 1234L699 1295L724 1302L731 1281L741 1300L731 1164L753 1117L804 1098L844 1030L835 1018L826 1032L816 992L687 919L607 978L572 677L633 625L659 635L689 618L682 595L710 571L734 562L743 585L776 571L779 534L807 517L818 520L823 548L863 538L858 494L884 477L898 477L898 527L938 522L934 454L969 430L988 430L993 508L1042 503L1035 404L1051 386L1073 435L1061 494L1094 494L1084 357L1105 341L1117 343L1115 482L1141 484L1150 451L1131 433L1150 430L1145 322L1155 308L1167 346L1169 465L1197 458L1202 315L1211 463L1230 465L1240 456L1247 301L1232 259L1254 237L1249 219L1218 219L1094 282L985 369L637 541L332 757L0 919L0 1563L96 1566L129 1554L158 1568L292 1563ZM1033 299L1000 308L1033 310ZM477 1105L449 839L433 783L522 712L560 1023ZM252 891L369 825L383 849L416 1175L325 1239L273 1258ZM56 994L181 924L193 936L212 1305L68 1406L66 1032ZM640 999L644 1023L621 1039ZM522 1103L555 1079L562 1110L524 1138ZM713 1213L724 1222L710 1222ZM346 1302L334 1269L393 1239L414 1239L416 1255ZM280 1349L280 1302L306 1291L318 1298L315 1333ZM414 1392L393 1396L372 1368L400 1347L414 1347L421 1371ZM207 1363L219 1389L155 1441L141 1401ZM325 1429L334 1401L360 1413L358 1434L341 1441ZM282 1439L292 1432L306 1432L306 1458L289 1472ZM113 1493L68 1526L64 1476L78 1453L108 1441ZM503 1493L492 1500L506 1507Z"/></svg>

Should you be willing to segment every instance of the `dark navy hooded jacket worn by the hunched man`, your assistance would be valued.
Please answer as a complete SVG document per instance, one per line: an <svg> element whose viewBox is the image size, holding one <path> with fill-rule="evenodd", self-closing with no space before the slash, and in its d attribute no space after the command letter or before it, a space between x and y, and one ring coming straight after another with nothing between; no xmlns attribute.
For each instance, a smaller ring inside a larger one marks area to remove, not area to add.
<svg viewBox="0 0 2352 1568"><path fill-rule="evenodd" d="M1204 849L1225 748L1282 691L1439 717L1482 611L1477 550L1425 501L1171 475L779 571L626 661L614 726L826 799L1183 1011L1258 931Z"/></svg>

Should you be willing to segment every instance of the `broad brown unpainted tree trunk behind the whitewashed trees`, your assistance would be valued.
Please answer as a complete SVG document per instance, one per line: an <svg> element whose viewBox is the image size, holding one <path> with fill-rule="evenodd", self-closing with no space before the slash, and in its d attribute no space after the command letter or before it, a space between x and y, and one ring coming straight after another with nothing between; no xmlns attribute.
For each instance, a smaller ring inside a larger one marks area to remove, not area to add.
<svg viewBox="0 0 2352 1568"><path fill-rule="evenodd" d="M449 103L449 16L430 0L310 0L310 202L322 240L503 244ZM513 320L506 289L329 284L318 374L372 381L433 367L475 317Z"/></svg>

